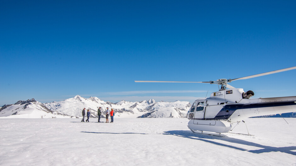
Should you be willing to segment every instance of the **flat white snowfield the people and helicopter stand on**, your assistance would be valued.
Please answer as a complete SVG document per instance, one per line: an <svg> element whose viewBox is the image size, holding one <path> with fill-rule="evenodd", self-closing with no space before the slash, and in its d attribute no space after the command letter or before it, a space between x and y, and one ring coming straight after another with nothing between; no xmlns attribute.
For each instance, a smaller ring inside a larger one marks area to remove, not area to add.
<svg viewBox="0 0 296 166"><path fill-rule="evenodd" d="M192 133L185 118L0 120L0 165L296 165L296 119L248 118L254 136ZM233 125L234 126L234 125ZM233 131L247 133L244 123Z"/></svg>

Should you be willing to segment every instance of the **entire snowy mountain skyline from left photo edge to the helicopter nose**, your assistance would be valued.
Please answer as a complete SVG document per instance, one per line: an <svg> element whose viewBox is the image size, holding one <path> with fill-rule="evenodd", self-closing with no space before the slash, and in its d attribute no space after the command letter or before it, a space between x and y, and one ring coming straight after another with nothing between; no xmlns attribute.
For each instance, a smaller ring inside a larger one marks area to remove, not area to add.
<svg viewBox="0 0 296 166"><path fill-rule="evenodd" d="M0 117L8 118L78 118L82 109L90 110L90 117L98 117L97 110L102 107L101 117L105 117L106 108L114 109L115 117L174 117L183 118L191 107L188 101L156 102L153 99L140 102L120 101L105 102L97 97L88 99L75 96L64 101L54 101L42 104L34 99L18 101L15 104L4 105L0 108Z"/></svg>

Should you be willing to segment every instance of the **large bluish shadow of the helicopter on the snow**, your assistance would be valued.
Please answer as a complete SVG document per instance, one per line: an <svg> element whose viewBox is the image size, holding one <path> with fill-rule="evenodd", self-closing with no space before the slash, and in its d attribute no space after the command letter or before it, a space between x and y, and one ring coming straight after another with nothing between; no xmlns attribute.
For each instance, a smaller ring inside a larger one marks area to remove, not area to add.
<svg viewBox="0 0 296 166"><path fill-rule="evenodd" d="M165 135L174 135L174 136L189 138L189 139L195 139L195 140L204 141L204 142L208 142L208 143L213 143L213 144L216 144L216 145L225 146L225 147L229 147L229 148L234 148L234 149L238 149L238 150L242 150L242 151L248 151L248 152L251 152L251 153L283 152L283 153L296 155L296 152L292 151L292 150L296 150L296 146L276 148L276 147L271 147L271 146L260 145L258 143L252 143L252 142L249 142L249 141L244 141L244 140L241 140L241 139L231 138L231 137L227 137L227 136L225 136L225 137L216 137L216 136L211 136L211 135L192 133L191 131L186 131L186 130L167 131L164 134ZM227 145L227 144L224 144L224 143L217 143L215 141L211 141L211 140L208 140L208 139L216 139L216 140L226 141L226 142L230 142L230 143L237 143L237 144L242 144L242 145L254 146L254 147L258 147L258 148L262 148L262 149L247 150L247 149L244 149L244 148L239 148L239 147Z"/></svg>

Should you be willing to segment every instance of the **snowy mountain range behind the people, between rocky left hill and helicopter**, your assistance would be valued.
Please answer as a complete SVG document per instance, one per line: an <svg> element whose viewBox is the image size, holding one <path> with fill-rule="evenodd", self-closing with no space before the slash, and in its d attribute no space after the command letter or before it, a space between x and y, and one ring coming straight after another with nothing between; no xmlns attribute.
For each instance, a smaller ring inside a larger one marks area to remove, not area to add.
<svg viewBox="0 0 296 166"><path fill-rule="evenodd" d="M97 97L84 98L79 95L59 102L51 102L44 104L48 109L54 112L60 112L69 116L80 117L82 116L82 109L90 110L91 117L98 117L97 110L99 107L106 111L113 108L115 117L185 117L191 104L188 101L175 101L175 102L156 102L153 99L148 101L130 102L119 101L111 103L109 101L102 101ZM150 113L150 115L148 114ZM105 115L102 115L105 117Z"/></svg>

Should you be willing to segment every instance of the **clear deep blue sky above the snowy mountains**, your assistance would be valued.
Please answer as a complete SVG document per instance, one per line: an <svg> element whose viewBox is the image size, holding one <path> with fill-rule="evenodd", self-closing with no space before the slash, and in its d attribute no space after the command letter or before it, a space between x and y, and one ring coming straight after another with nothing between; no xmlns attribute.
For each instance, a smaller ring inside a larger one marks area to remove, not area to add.
<svg viewBox="0 0 296 166"><path fill-rule="evenodd" d="M0 2L0 105L80 95L194 101L198 83L296 66L296 1ZM231 82L296 96L296 70Z"/></svg>

